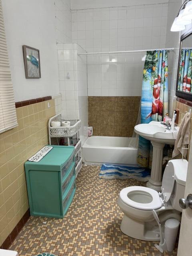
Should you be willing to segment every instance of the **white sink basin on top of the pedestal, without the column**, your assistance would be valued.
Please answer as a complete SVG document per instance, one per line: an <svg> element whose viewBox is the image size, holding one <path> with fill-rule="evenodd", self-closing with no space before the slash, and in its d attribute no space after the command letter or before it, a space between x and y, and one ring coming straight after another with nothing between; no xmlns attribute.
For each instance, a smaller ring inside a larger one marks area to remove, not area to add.
<svg viewBox="0 0 192 256"><path fill-rule="evenodd" d="M150 122L149 124L138 124L134 131L147 140L159 142L162 144L174 145L179 127L173 131L167 130L160 122Z"/></svg>

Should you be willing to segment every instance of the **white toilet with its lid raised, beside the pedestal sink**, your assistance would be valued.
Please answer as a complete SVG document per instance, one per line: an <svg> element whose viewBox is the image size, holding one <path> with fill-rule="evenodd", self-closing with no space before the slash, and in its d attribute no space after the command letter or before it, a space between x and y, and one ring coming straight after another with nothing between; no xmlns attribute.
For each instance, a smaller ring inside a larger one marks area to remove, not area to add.
<svg viewBox="0 0 192 256"><path fill-rule="evenodd" d="M118 205L124 216L121 231L132 238L159 241L160 232L152 211L155 210L162 227L166 220L181 220L179 199L184 197L188 161L170 160L162 178L162 192L143 186L123 188Z"/></svg>

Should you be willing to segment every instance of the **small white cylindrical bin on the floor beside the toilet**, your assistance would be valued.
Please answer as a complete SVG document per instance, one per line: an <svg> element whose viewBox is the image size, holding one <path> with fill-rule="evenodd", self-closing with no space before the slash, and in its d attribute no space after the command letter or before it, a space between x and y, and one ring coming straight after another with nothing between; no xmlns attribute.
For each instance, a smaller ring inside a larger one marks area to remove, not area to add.
<svg viewBox="0 0 192 256"><path fill-rule="evenodd" d="M179 221L176 219L168 219L165 222L164 229L164 238L167 245L168 252L172 252L174 250L175 241L177 238L179 228Z"/></svg>

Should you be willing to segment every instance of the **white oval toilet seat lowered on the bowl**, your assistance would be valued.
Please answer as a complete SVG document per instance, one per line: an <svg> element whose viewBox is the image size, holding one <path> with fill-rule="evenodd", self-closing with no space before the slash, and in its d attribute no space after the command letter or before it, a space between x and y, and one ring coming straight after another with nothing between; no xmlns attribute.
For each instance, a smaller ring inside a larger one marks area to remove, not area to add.
<svg viewBox="0 0 192 256"><path fill-rule="evenodd" d="M136 202L130 199L131 195L137 196L137 194L139 194L141 202ZM130 196L130 198L128 196ZM150 202L144 202L146 197L148 197ZM130 186L123 188L120 192L120 198L128 206L140 210L156 210L161 208L163 205L163 201L156 190L142 186Z"/></svg>

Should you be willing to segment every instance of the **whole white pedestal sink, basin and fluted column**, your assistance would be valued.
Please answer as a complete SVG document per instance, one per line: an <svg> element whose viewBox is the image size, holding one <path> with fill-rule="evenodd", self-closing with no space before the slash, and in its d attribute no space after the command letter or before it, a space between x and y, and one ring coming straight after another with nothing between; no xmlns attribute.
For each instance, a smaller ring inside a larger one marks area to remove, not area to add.
<svg viewBox="0 0 192 256"><path fill-rule="evenodd" d="M147 182L148 188L161 192L163 148L165 144L174 145L178 130L179 127L177 126L173 131L167 130L160 122L138 124L134 127L134 131L143 138L150 140L153 146L152 169L150 179Z"/></svg>

